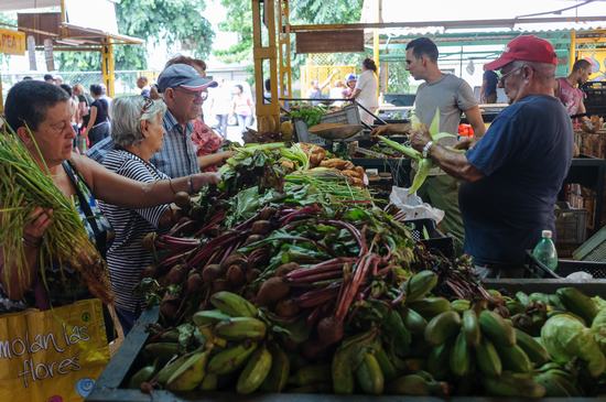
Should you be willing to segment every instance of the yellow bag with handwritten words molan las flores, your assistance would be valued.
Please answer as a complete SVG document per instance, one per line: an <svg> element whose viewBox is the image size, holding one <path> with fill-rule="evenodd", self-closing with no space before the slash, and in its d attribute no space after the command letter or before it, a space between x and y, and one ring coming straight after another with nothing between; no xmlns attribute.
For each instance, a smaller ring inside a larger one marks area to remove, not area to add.
<svg viewBox="0 0 606 402"><path fill-rule="evenodd" d="M83 401L108 361L99 300L0 316L0 401Z"/></svg>

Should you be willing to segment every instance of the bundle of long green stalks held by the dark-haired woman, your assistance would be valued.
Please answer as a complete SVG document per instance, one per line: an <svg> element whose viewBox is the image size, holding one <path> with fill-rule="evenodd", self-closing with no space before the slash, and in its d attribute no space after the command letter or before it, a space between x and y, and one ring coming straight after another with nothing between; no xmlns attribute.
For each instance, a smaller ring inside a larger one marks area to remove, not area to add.
<svg viewBox="0 0 606 402"><path fill-rule="evenodd" d="M52 224L40 247L39 267L46 285L46 267L56 263L59 272L69 267L82 275L90 293L104 303L112 301L107 265L82 224L74 203L55 186L46 165L43 169L32 157L23 142L12 131L0 132L0 245L4 268L13 264L19 281L24 281L28 262L23 247L23 229L37 206L52 208ZM31 134L30 134L31 135ZM33 137L32 137L33 140ZM34 141L35 143L35 141ZM36 150L40 160L43 157ZM2 274L11 283L9 269Z"/></svg>

